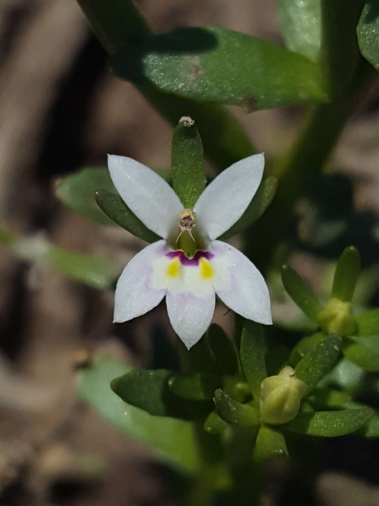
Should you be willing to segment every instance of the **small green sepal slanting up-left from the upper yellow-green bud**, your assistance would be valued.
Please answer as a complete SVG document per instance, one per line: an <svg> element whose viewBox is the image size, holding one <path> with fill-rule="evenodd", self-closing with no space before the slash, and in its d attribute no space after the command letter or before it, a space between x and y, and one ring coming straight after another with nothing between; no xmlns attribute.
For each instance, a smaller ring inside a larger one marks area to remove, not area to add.
<svg viewBox="0 0 379 506"><path fill-rule="evenodd" d="M281 269L281 280L291 299L308 318L317 322L317 316L322 310L322 306L303 278L289 265L283 265Z"/></svg>

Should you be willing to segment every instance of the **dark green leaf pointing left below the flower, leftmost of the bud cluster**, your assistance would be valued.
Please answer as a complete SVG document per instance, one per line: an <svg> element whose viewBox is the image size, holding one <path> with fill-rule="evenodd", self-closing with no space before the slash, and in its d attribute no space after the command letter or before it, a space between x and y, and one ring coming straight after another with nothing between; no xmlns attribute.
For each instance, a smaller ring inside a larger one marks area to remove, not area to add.
<svg viewBox="0 0 379 506"><path fill-rule="evenodd" d="M124 402L154 416L194 419L208 412L204 403L184 401L174 396L168 387L172 371L165 369L132 369L114 378L111 389Z"/></svg>

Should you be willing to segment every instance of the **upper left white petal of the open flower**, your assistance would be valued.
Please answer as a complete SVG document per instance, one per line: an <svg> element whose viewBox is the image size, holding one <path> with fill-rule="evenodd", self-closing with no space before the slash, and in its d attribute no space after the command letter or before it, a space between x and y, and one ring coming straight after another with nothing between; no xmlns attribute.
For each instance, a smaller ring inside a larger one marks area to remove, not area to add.
<svg viewBox="0 0 379 506"><path fill-rule="evenodd" d="M171 186L151 168L127 156L108 155L108 168L116 190L135 216L167 239L183 209Z"/></svg>

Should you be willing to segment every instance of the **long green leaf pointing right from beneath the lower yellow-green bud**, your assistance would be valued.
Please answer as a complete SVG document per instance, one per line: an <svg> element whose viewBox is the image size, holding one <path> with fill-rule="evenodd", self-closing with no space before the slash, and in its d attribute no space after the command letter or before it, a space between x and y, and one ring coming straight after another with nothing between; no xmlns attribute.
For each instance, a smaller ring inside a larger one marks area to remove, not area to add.
<svg viewBox="0 0 379 506"><path fill-rule="evenodd" d="M282 427L309 436L336 437L356 431L365 425L373 414L370 408L300 413Z"/></svg>

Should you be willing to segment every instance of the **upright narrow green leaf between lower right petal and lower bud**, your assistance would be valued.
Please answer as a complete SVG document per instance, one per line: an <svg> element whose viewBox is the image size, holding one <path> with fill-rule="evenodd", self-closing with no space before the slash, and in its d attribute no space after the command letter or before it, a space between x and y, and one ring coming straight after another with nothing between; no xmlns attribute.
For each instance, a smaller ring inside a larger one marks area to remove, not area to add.
<svg viewBox="0 0 379 506"><path fill-rule="evenodd" d="M262 325L246 321L241 335L240 358L255 399L260 398L261 383L267 376Z"/></svg>

